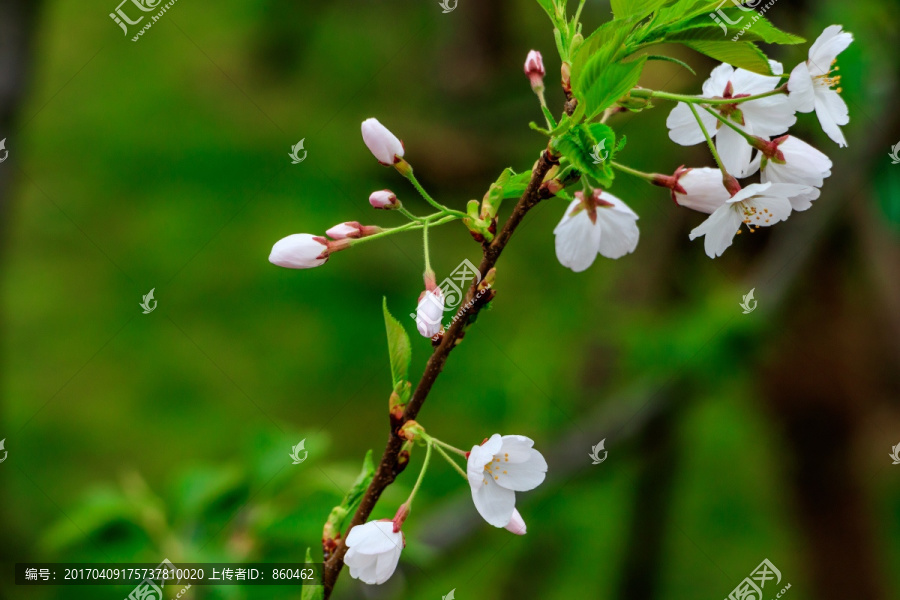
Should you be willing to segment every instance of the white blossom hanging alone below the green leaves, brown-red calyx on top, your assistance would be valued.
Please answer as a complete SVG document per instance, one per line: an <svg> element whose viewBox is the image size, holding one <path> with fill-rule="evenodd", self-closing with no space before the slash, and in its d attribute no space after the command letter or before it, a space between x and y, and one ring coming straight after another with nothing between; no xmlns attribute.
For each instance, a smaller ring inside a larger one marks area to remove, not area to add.
<svg viewBox="0 0 900 600"><path fill-rule="evenodd" d="M612 194L594 190L586 198L575 192L575 200L553 230L556 257L564 267L579 273L594 263L598 253L620 258L634 252L640 237L637 219L637 214Z"/></svg>

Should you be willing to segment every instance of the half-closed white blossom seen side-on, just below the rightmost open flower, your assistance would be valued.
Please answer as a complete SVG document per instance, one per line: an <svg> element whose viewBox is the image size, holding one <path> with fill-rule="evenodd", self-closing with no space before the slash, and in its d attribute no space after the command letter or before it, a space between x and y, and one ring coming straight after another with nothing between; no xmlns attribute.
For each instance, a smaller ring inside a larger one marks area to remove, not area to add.
<svg viewBox="0 0 900 600"><path fill-rule="evenodd" d="M807 193L790 198L794 210L806 210L819 197L825 178L831 176L831 159L803 140L786 135L767 144L761 154L763 183L798 183L812 186Z"/></svg>

